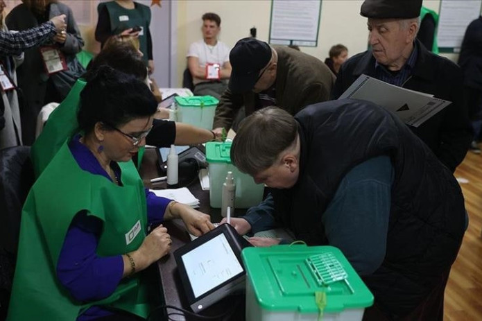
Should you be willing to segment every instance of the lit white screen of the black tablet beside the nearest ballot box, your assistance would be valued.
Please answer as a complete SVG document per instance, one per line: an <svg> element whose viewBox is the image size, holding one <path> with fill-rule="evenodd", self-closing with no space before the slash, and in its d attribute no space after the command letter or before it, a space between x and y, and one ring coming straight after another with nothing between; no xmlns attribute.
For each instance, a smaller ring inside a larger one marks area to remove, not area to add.
<svg viewBox="0 0 482 321"><path fill-rule="evenodd" d="M219 234L181 258L195 297L243 272L224 234Z"/></svg>

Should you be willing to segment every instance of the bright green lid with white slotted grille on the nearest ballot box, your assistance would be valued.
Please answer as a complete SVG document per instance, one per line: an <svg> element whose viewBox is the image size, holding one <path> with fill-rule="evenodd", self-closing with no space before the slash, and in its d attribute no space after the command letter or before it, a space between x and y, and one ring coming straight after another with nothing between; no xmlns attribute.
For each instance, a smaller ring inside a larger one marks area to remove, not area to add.
<svg viewBox="0 0 482 321"><path fill-rule="evenodd" d="M343 253L332 246L245 248L248 281L262 309L317 313L316 293L326 293L326 313L363 309L373 295Z"/></svg>

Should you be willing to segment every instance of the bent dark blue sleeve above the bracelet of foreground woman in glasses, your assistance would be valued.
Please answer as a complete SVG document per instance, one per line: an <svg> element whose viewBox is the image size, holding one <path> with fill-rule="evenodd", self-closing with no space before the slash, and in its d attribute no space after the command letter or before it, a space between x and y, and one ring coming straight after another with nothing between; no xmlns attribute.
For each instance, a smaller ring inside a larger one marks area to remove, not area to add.
<svg viewBox="0 0 482 321"><path fill-rule="evenodd" d="M57 277L78 301L108 297L122 279L121 255L98 257L96 254L102 221L84 212L77 214L64 238L57 262Z"/></svg>

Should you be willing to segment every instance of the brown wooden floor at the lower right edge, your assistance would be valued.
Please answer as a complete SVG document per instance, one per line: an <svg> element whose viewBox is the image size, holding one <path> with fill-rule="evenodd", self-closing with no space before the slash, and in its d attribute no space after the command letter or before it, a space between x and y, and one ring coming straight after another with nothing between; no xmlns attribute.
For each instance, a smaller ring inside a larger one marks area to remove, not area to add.
<svg viewBox="0 0 482 321"><path fill-rule="evenodd" d="M482 155L467 153L455 176L470 223L445 289L444 320L482 320Z"/></svg>

